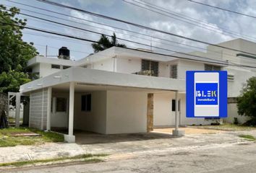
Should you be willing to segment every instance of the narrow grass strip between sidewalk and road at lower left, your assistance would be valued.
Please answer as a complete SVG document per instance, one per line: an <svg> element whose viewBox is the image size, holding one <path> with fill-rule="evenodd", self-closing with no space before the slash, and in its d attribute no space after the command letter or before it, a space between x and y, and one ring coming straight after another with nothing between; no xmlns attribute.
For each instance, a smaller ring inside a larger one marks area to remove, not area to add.
<svg viewBox="0 0 256 173"><path fill-rule="evenodd" d="M9 166L14 166L14 167L22 167L25 165L30 165L30 164L45 164L45 163L53 163L53 162L58 162L58 161L85 161L85 162L100 162L102 161L98 157L103 157L103 156L108 156L107 154L82 154L78 156L72 156L72 157L60 157L56 159L40 159L40 160L33 160L33 161L15 161L15 162L9 162L9 163L2 163L0 164L0 167L9 167Z"/></svg>

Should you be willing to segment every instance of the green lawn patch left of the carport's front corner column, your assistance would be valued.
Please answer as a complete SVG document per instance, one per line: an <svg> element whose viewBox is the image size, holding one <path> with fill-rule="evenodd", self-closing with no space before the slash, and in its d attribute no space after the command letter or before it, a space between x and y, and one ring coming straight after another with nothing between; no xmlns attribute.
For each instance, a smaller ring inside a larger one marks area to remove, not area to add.
<svg viewBox="0 0 256 173"><path fill-rule="evenodd" d="M14 136L22 133L38 133L40 136ZM44 132L31 128L0 129L0 147L17 145L34 145L46 142L63 142L64 136L59 133Z"/></svg>

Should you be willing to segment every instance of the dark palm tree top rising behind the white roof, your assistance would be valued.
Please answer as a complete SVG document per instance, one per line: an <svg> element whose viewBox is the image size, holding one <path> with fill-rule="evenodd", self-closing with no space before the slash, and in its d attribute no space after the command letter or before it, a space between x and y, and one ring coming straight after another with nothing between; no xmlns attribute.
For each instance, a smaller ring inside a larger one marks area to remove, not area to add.
<svg viewBox="0 0 256 173"><path fill-rule="evenodd" d="M105 50L107 48L111 48L113 46L121 47L121 48L126 48L127 46L124 44L119 44L117 39L116 39L116 34L115 32L111 36L111 40L109 40L106 35L101 35L100 40L98 40L98 43L93 43L92 47L94 49L94 53L98 53L102 50Z"/></svg>

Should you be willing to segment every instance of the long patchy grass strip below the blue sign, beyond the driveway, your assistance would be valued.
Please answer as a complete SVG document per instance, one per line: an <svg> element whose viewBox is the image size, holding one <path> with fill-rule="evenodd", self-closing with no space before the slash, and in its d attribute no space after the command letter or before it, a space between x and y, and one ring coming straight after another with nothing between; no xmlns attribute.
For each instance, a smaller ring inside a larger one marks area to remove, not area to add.
<svg viewBox="0 0 256 173"><path fill-rule="evenodd" d="M207 128L214 130L227 130L227 131L240 131L240 130L256 130L256 127L246 125L234 125L234 124L223 124L223 125L202 125L197 128Z"/></svg>

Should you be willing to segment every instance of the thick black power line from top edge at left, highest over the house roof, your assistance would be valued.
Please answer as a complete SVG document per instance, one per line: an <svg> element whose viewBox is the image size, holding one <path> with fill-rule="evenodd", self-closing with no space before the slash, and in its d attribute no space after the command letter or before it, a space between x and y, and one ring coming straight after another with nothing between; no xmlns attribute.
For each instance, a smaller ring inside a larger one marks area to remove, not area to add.
<svg viewBox="0 0 256 173"><path fill-rule="evenodd" d="M212 45L212 46L215 46L215 47L218 47L218 48L223 48L223 49L227 49L227 50L233 50L233 51L236 51L236 52L247 53L247 54L256 56L255 53L248 53L248 52L243 51L243 50L237 50L237 49L234 49L234 48L227 48L227 47L222 46L222 45L214 45L213 43L208 43L208 42L205 42L205 41L202 41L202 40L196 40L194 38L186 37L186 36L183 36L183 35L174 34L172 32L166 32L166 31L163 31L163 30L157 30L155 28L147 27L147 26L144 26L144 25L138 25L138 24L135 24L133 22L128 22L128 21L125 21L125 20L122 20L122 19L116 19L114 17L108 17L108 16L103 15L103 14L97 14L97 13L94 13L94 12L89 12L89 11L84 10L84 9L78 9L78 8L75 8L75 7L72 7L72 6L67 6L67 5L64 5L64 4L59 4L59 3L52 2L52 1L47 1L47 0L36 0L36 1L40 1L40 2L43 2L43 3L46 3L46 4L52 4L54 6L60 6L62 8L73 9L73 10L76 10L78 12L83 12L85 14L90 14L90 15L95 16L95 17L100 17L100 18L108 19L108 20L114 20L116 22L125 23L127 25L132 25L132 26L135 26L135 27L140 27L140 28L145 29L145 30L161 32L161 33L166 34L166 35L172 35L174 37L180 37L180 38L183 38L183 39L186 39L186 40L191 40L191 41L194 41L194 42L197 42L197 43L202 43L202 44L205 44L205 45Z"/></svg>

